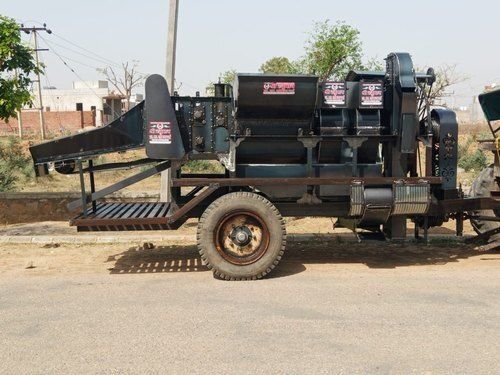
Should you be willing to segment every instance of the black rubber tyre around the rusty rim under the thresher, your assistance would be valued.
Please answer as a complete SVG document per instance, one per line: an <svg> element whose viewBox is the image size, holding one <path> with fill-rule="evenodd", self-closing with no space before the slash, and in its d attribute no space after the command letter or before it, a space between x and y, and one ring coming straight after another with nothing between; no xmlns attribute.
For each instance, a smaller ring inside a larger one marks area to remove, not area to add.
<svg viewBox="0 0 500 375"><path fill-rule="evenodd" d="M234 210L258 214L269 230L269 247L255 263L239 266L225 260L214 244L214 231L219 221ZM198 222L196 234L198 251L203 264L212 270L214 277L238 281L260 279L279 263L286 247L285 221L278 209L266 198L249 192L235 192L218 198L205 210Z"/></svg>

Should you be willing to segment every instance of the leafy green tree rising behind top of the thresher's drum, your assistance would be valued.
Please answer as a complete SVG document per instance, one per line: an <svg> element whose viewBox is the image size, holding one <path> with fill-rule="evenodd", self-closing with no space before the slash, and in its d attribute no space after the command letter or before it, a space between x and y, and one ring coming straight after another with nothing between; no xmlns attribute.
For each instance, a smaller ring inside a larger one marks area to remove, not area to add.
<svg viewBox="0 0 500 375"><path fill-rule="evenodd" d="M309 74L320 79L341 79L352 69L363 67L363 45L359 30L337 21L316 22L305 47L300 65Z"/></svg>

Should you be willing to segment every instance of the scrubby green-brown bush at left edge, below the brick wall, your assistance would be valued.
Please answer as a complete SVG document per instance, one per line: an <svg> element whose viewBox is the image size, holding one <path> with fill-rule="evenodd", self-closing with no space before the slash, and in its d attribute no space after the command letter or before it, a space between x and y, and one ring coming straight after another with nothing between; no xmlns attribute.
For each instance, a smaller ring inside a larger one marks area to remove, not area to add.
<svg viewBox="0 0 500 375"><path fill-rule="evenodd" d="M0 191L12 191L23 179L33 177L31 159L26 156L18 138L0 142Z"/></svg>

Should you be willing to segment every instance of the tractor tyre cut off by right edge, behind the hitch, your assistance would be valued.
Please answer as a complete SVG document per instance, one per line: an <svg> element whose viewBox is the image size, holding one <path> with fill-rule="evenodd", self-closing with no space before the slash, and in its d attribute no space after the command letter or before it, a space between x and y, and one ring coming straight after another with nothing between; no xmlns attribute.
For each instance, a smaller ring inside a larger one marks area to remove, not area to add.
<svg viewBox="0 0 500 375"><path fill-rule="evenodd" d="M485 168L479 173L470 190L470 197L472 198L486 198L490 197L490 192L495 188L495 173L493 166ZM480 216L497 216L493 210L475 211L473 215ZM478 234L485 233L500 226L500 223L493 221L471 220L472 227ZM493 236L492 240L499 240L500 235Z"/></svg>

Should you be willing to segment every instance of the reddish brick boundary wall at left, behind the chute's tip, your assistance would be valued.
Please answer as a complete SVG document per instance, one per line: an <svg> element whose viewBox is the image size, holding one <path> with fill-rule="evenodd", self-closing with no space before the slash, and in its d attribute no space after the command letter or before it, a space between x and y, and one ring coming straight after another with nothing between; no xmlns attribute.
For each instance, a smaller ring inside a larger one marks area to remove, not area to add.
<svg viewBox="0 0 500 375"><path fill-rule="evenodd" d="M50 135L74 133L86 126L93 125L91 111L44 112L45 132ZM23 133L36 135L40 133L40 117L37 111L22 113ZM12 118L9 123L0 120L0 136L18 134L17 118Z"/></svg>

